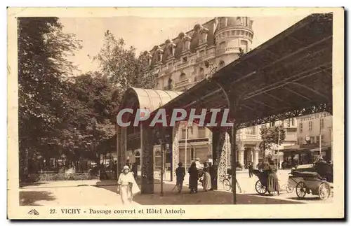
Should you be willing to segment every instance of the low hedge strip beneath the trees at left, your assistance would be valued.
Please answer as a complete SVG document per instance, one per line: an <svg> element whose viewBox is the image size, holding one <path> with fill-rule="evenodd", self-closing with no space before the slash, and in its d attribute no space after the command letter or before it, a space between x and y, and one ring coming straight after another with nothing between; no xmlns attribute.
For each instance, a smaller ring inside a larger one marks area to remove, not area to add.
<svg viewBox="0 0 351 226"><path fill-rule="evenodd" d="M98 179L97 176L92 176L89 173L76 173L76 174L38 174L36 181L81 181L81 180L94 180Z"/></svg>

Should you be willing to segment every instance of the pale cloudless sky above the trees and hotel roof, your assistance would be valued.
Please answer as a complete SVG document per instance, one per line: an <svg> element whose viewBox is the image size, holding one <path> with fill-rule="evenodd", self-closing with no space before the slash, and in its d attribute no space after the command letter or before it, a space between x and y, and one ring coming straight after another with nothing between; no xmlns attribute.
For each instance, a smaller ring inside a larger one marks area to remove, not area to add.
<svg viewBox="0 0 351 226"><path fill-rule="evenodd" d="M253 43L251 48L265 43L270 38L291 27L308 14L269 17L251 17L253 20ZM91 57L102 48L105 31L110 30L117 38L124 38L126 46L133 45L137 54L151 50L154 45L176 38L181 31L190 31L195 24L204 23L213 17L60 17L65 33L76 34L83 48L69 59L78 66L75 75L97 71L98 62Z"/></svg>

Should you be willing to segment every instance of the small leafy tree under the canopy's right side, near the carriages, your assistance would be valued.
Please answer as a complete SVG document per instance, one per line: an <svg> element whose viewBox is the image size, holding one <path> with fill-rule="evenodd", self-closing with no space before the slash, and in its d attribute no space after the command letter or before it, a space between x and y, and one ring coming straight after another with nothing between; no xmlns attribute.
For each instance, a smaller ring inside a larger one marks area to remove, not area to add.
<svg viewBox="0 0 351 226"><path fill-rule="evenodd" d="M279 134L280 132L280 134ZM265 157L265 150L274 150L274 146L278 143L282 143L285 140L285 131L281 126L274 127L261 127L260 134L262 142L260 143L260 149L263 151Z"/></svg>

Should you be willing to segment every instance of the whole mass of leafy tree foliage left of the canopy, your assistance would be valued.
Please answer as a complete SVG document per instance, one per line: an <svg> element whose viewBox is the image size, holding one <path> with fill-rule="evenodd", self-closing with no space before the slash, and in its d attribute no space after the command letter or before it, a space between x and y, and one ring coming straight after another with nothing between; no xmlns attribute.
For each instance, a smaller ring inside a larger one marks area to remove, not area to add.
<svg viewBox="0 0 351 226"><path fill-rule="evenodd" d="M82 157L100 162L101 154L115 149L121 94L129 86L156 85L147 56L135 57L135 48L126 49L109 31L94 58L101 71L72 77L75 67L67 57L80 48L56 17L18 19L21 176L46 169L50 157L61 157L68 167Z"/></svg>

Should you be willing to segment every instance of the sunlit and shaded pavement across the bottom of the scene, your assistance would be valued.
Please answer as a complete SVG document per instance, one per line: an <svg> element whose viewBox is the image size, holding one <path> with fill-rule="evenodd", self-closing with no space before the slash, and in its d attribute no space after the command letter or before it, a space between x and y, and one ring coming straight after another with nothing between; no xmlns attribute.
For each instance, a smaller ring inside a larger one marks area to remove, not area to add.
<svg viewBox="0 0 351 226"><path fill-rule="evenodd" d="M246 173L246 174L245 174ZM279 170L280 185L288 181L289 171ZM139 174L140 175L140 174ZM181 204L232 204L232 192L223 188L216 191L204 192L199 185L199 192L190 194L187 188L187 178L182 192L177 194L174 182L164 181L164 193L161 195L161 183L154 180L154 194L138 194L134 197L135 205L181 205ZM241 187L241 193L237 193L237 204L306 204L306 203L331 203L333 198L324 201L317 196L306 195L304 199L298 199L295 190L288 194L282 190L279 196L258 195L255 190L256 176L249 178L249 173L241 171L237 174L237 181ZM138 180L140 186L140 180ZM53 181L46 183L34 183L20 188L20 205L23 206L119 206L121 199L117 192L114 180L88 180L88 181ZM69 195L67 195L69 194ZM74 198L72 198L74 197Z"/></svg>

